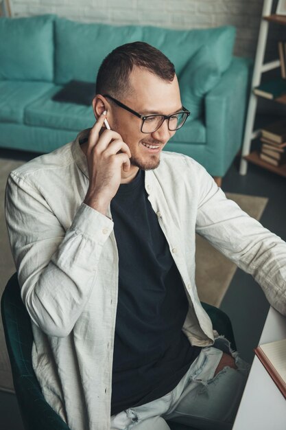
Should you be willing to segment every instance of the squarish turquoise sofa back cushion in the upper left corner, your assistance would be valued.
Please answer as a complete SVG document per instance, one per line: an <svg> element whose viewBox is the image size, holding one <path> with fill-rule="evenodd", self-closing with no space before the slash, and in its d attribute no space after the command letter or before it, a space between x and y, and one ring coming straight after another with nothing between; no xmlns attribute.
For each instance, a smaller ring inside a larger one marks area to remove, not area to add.
<svg viewBox="0 0 286 430"><path fill-rule="evenodd" d="M1 80L53 80L53 19L0 18Z"/></svg>

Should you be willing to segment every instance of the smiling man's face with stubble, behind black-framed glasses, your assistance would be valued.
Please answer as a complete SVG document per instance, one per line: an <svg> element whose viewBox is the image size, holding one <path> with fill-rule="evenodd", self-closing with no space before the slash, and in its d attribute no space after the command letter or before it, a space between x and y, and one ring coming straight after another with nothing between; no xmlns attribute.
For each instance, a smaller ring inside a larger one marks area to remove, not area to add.
<svg viewBox="0 0 286 430"><path fill-rule="evenodd" d="M182 109L178 79L175 76L172 82L162 80L145 69L135 67L130 74L131 93L120 98L141 115L160 113L171 115ZM109 100L108 100L109 101ZM154 133L141 132L142 120L132 113L112 103L112 124L131 152L131 166L143 170L155 169L160 163L160 152L168 140L176 133L169 131L165 120ZM155 146L155 148L150 148ZM149 147L148 147L149 146Z"/></svg>

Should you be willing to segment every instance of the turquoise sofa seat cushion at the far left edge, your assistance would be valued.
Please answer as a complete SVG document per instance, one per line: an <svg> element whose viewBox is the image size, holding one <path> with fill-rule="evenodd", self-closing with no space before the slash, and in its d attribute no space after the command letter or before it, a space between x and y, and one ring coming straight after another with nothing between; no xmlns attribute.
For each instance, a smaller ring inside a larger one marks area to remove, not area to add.
<svg viewBox="0 0 286 430"><path fill-rule="evenodd" d="M0 81L0 122L23 123L27 104L47 93L49 82Z"/></svg>

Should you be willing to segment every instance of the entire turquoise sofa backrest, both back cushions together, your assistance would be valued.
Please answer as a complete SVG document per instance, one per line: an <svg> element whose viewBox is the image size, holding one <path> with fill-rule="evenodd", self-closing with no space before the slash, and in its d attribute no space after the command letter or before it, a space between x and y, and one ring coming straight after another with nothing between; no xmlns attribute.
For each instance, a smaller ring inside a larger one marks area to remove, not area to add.
<svg viewBox="0 0 286 430"><path fill-rule="evenodd" d="M78 23L56 15L43 15L0 18L0 40L0 80L95 82L106 55L132 41L145 41L164 52L174 63L180 80L181 73L186 76L189 67L193 67L190 58L195 58L202 47L208 47L208 63L215 63L218 76L224 73L232 60L235 27L170 30ZM205 63L202 62L202 67ZM190 72L193 73L191 69Z"/></svg>

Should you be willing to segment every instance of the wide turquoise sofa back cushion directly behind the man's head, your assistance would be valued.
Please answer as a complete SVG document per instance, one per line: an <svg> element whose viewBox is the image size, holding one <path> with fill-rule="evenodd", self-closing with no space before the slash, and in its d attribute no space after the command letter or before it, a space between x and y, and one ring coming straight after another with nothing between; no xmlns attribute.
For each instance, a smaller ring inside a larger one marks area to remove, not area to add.
<svg viewBox="0 0 286 430"><path fill-rule="evenodd" d="M144 41L160 49L179 74L189 58L208 45L217 57L220 71L228 69L235 41L235 27L204 30L170 30L139 25L86 24L58 18L55 21L56 83L72 79L95 82L102 60L123 43Z"/></svg>

